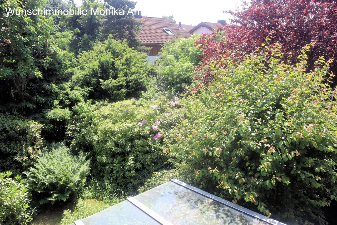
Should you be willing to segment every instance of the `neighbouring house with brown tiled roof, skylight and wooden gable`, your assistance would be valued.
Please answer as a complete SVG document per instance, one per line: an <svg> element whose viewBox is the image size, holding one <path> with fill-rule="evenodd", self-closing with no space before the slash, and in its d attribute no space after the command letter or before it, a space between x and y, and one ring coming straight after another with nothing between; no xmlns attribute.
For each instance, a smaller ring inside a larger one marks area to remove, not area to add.
<svg viewBox="0 0 337 225"><path fill-rule="evenodd" d="M134 18L144 23L141 25L143 30L137 34L137 37L142 41L143 45L151 47L150 55L148 56L149 62L158 57L158 52L166 41L177 37L189 38L191 36L187 30L170 19L142 17L142 15L136 15Z"/></svg>

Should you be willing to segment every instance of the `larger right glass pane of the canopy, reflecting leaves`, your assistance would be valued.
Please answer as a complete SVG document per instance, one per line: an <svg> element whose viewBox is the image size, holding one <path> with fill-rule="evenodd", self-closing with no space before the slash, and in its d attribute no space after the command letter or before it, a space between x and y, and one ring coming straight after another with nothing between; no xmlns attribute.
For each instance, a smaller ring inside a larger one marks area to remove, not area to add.
<svg viewBox="0 0 337 225"><path fill-rule="evenodd" d="M173 224L267 224L170 181L134 198Z"/></svg>

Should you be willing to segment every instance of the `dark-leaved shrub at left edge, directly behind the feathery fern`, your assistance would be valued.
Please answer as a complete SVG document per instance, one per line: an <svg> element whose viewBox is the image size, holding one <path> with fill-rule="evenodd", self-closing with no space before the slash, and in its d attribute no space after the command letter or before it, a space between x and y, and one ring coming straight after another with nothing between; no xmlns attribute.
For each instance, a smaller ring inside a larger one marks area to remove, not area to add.
<svg viewBox="0 0 337 225"><path fill-rule="evenodd" d="M34 120L0 114L0 171L23 172L43 147L42 125Z"/></svg>

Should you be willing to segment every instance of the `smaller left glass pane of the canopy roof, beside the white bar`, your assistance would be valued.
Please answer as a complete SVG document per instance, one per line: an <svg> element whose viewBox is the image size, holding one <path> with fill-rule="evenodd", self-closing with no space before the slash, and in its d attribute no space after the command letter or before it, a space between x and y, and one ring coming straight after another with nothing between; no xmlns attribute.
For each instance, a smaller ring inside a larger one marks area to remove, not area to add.
<svg viewBox="0 0 337 225"><path fill-rule="evenodd" d="M82 219L85 225L111 224L149 224L157 225L157 221L128 201L123 201L99 213Z"/></svg>

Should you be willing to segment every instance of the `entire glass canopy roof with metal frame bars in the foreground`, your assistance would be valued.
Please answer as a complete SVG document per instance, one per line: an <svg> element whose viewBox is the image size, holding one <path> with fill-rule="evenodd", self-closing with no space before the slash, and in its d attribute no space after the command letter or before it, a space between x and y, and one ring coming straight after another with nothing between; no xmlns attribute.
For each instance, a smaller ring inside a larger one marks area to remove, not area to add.
<svg viewBox="0 0 337 225"><path fill-rule="evenodd" d="M175 178L74 225L253 224L285 225Z"/></svg>

